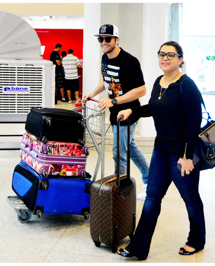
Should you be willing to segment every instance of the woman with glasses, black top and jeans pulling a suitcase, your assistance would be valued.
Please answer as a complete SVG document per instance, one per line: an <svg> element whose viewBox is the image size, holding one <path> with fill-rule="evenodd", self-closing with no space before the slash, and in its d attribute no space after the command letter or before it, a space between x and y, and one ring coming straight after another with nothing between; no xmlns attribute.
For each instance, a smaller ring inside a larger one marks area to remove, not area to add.
<svg viewBox="0 0 215 266"><path fill-rule="evenodd" d="M193 151L202 119L201 97L194 81L179 71L183 63L183 51L177 42L161 45L158 64L164 75L155 80L149 103L118 114L123 115L124 120L129 115L152 116L157 131L143 211L134 238L125 249L118 251L121 256L147 258L161 201L172 181L185 202L190 221L189 236L179 254L192 255L205 245L204 211L198 192L199 170L197 165L193 166ZM177 164L181 165L181 170Z"/></svg>

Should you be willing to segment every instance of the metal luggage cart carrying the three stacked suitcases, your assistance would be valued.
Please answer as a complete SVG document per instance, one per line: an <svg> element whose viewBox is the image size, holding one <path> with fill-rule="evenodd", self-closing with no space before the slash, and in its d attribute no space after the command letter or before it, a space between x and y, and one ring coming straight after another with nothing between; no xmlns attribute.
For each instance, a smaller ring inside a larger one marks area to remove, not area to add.
<svg viewBox="0 0 215 266"><path fill-rule="evenodd" d="M92 138L92 142L96 147L96 151L98 152L98 160L96 163L96 168L94 171L92 182L96 180L98 170L101 164L101 178L104 178L104 133L105 133L105 113L92 108L88 108L86 106L73 108L72 111L83 110L83 119L86 123L85 134L84 134L84 142L86 141L86 135L90 135ZM95 135L101 137L101 149L99 144L96 141ZM14 208L14 211L17 212L18 220L21 223L26 223L31 218L31 211L27 208L24 202L18 196L8 196L7 201L9 205ZM88 213L87 213L88 214ZM89 218L88 215L84 215L84 218L87 220ZM37 212L37 217L41 218L41 213Z"/></svg>

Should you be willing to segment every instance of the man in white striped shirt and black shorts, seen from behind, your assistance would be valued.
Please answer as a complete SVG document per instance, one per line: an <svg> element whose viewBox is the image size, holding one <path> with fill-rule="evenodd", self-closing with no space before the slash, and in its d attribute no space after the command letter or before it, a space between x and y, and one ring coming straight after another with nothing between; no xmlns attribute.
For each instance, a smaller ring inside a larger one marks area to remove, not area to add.
<svg viewBox="0 0 215 266"><path fill-rule="evenodd" d="M78 100L79 98L79 81L77 68L80 68L81 66L78 57L73 55L72 49L68 50L68 55L63 58L62 65L65 71L65 83L67 95L69 98L69 104L71 104L71 91L75 92L76 100Z"/></svg>

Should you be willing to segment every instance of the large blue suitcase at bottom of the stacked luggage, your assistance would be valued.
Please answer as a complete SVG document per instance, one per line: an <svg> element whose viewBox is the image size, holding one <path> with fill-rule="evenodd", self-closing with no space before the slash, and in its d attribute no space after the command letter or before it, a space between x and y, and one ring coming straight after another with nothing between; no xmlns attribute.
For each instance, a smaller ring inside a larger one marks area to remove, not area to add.
<svg viewBox="0 0 215 266"><path fill-rule="evenodd" d="M89 218L90 186L83 178L44 178L24 161L15 167L12 189L28 209L42 214L79 214Z"/></svg>

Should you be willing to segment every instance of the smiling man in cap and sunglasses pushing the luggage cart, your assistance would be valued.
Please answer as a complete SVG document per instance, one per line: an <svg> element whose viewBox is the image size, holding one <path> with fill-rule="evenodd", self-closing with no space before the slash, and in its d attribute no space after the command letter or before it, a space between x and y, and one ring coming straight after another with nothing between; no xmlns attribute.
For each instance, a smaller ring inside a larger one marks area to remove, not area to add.
<svg viewBox="0 0 215 266"><path fill-rule="evenodd" d="M110 122L113 129L113 158L116 169L116 119L119 111L140 106L138 98L146 94L143 73L137 58L125 52L119 47L119 31L115 25L105 24L100 27L98 37L100 46L104 52L102 56L101 72L102 80L90 94L84 94L82 102L93 98L106 90L108 98L98 101L98 107L104 112L110 110ZM131 117L130 148L131 159L142 173L144 183L143 193L137 198L144 200L148 179L148 163L143 153L135 144L134 131L138 119ZM120 122L120 174L126 174L127 162L127 121Z"/></svg>

